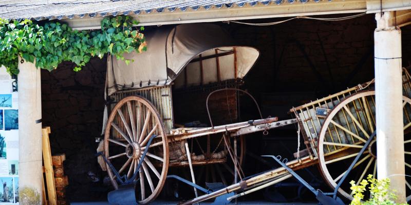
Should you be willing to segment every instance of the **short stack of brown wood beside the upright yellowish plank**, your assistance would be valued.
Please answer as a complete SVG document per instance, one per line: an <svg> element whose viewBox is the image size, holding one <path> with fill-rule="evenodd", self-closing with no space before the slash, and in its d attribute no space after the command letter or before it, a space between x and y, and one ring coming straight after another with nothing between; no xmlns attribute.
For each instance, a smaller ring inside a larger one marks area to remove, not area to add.
<svg viewBox="0 0 411 205"><path fill-rule="evenodd" d="M54 172L55 192L57 196L57 205L65 205L66 187L68 185L68 177L64 175L63 162L66 160L65 154L59 154L51 157Z"/></svg>

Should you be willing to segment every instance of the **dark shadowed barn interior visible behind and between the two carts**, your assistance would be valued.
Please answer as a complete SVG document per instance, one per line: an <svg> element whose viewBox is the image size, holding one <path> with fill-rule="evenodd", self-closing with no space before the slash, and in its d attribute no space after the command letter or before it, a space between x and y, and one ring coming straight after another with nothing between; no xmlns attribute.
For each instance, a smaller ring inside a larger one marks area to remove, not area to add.
<svg viewBox="0 0 411 205"><path fill-rule="evenodd" d="M176 80L172 87L175 124L200 121L200 124L210 126L206 98L212 90L220 88L246 90L257 101L263 118L277 116L283 120L294 117L290 113L293 107L371 80L374 77L374 17L369 14L333 21L298 18L270 26L213 23L227 30L237 45L256 48L260 55L241 81L221 80L219 83L198 86L187 83L190 78L184 83L184 74L180 75L182 79ZM241 22L270 23L285 19ZM155 29L158 27L145 27L146 31ZM411 26L402 27L401 30L402 59L406 67L411 65ZM113 189L96 156L99 145L96 141L101 139L104 129L106 62L107 56L103 59L92 58L80 72L73 71L72 63L63 63L51 72L41 71L43 125L51 127L52 154L66 153L65 172L69 177L66 194L70 201L106 200L107 193ZM185 69L189 69L189 66ZM210 99L209 104L216 125L260 118L253 100L240 92L221 91ZM244 141L240 142L241 145L245 144L242 160L245 175L279 166L261 155L281 155L293 159L299 146L297 136L296 125L269 130L268 135L258 132L245 136ZM199 139L198 143L204 140L207 139ZM303 145L300 147L303 148ZM210 173L204 173L204 180L213 180L216 172L213 174L212 170L216 168L211 166L202 169L206 170L202 172ZM197 170L201 172L200 167L196 167ZM188 167L170 168L169 173L189 178L190 170ZM316 166L307 167L298 173L309 179L314 187L327 190ZM176 201L193 197L191 187L174 180L167 180L159 196L160 199ZM314 196L295 179L238 200L261 198L274 202L314 200Z"/></svg>

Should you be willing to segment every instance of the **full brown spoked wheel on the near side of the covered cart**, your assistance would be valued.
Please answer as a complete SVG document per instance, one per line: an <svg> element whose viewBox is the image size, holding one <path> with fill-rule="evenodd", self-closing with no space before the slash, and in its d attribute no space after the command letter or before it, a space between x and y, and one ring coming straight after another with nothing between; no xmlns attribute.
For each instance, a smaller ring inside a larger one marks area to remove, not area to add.
<svg viewBox="0 0 411 205"><path fill-rule="evenodd" d="M164 126L153 104L139 96L120 100L107 121L104 154L120 176L125 175L126 180L136 183L138 203L146 204L160 193L169 168L168 153ZM111 183L118 189L114 171L107 169L107 172ZM133 175L136 176L134 179Z"/></svg>

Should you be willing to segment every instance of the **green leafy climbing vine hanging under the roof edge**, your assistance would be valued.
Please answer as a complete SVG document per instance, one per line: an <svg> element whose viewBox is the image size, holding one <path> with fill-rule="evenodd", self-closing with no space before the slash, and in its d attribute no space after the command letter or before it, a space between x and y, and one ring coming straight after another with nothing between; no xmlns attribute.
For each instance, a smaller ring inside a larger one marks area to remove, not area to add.
<svg viewBox="0 0 411 205"><path fill-rule="evenodd" d="M0 19L0 65L10 74L17 74L18 55L34 63L37 68L49 71L62 61L76 64L80 71L91 57L102 58L110 53L118 59L124 53L146 50L144 27L133 27L138 22L129 16L105 17L101 30L78 31L59 22L32 22L31 20Z"/></svg>

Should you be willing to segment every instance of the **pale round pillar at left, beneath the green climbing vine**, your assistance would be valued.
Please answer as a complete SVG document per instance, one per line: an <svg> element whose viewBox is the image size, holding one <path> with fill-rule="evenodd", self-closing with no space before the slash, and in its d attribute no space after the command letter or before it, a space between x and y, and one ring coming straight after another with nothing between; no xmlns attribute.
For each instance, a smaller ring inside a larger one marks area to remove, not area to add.
<svg viewBox="0 0 411 205"><path fill-rule="evenodd" d="M18 58L19 199L22 205L41 205L42 101L40 69Z"/></svg>

